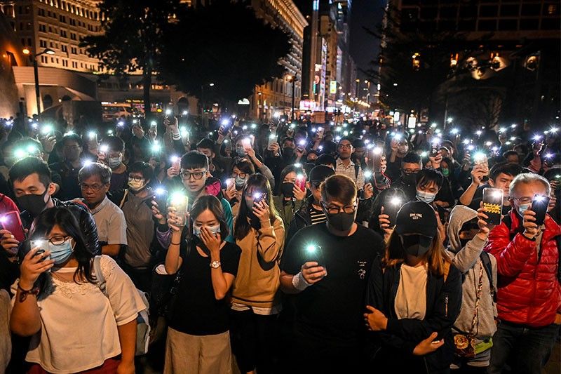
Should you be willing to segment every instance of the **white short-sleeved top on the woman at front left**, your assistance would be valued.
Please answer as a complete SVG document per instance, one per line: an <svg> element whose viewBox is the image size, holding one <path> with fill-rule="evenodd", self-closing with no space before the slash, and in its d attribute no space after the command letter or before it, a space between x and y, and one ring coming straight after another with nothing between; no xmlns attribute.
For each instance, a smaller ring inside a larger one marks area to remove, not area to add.
<svg viewBox="0 0 561 374"><path fill-rule="evenodd" d="M76 373L121 354L117 326L135 320L145 306L115 260L102 255L100 266L109 298L97 284L51 277L55 289L37 302L41 331L32 336L26 361L39 363L50 373ZM66 267L58 269L57 274L75 271Z"/></svg>

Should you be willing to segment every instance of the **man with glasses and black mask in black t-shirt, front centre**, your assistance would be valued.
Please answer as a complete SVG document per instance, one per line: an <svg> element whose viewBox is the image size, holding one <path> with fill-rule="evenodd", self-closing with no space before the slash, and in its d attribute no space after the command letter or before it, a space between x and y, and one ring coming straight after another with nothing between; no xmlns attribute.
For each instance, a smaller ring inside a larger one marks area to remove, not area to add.
<svg viewBox="0 0 561 374"><path fill-rule="evenodd" d="M332 175L320 189L327 222L297 232L280 264L280 288L296 294L297 310L286 370L353 373L364 362L367 279L384 243L356 224L358 198L351 179Z"/></svg>

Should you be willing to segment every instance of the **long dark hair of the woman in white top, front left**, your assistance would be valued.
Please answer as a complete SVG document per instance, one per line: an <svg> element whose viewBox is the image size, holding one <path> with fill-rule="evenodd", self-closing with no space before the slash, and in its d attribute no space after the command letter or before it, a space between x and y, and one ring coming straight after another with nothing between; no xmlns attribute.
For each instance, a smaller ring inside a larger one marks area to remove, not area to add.
<svg viewBox="0 0 561 374"><path fill-rule="evenodd" d="M42 211L33 221L29 238L46 238L55 225L58 225L62 231L74 239L74 257L78 261L78 269L74 273L74 282L79 283L86 279L90 283L95 283L96 279L92 274L91 262L94 255L86 248L86 241L83 239L78 221L67 208L61 206Z"/></svg>

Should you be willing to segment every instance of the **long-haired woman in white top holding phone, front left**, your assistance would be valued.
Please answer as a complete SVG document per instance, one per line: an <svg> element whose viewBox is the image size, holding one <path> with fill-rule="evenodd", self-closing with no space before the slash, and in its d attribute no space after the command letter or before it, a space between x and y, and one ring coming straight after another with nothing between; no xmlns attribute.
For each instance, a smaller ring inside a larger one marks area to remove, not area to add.
<svg viewBox="0 0 561 374"><path fill-rule="evenodd" d="M43 211L29 238L41 245L22 261L11 315L13 333L32 337L28 373L135 373L136 319L145 307L133 282L102 255L107 296L100 290L67 208Z"/></svg>

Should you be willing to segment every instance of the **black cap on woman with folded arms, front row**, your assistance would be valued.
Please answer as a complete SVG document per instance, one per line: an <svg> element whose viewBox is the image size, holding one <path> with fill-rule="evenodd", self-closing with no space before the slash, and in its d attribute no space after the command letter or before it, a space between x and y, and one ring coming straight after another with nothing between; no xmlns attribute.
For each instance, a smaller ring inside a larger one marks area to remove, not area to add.
<svg viewBox="0 0 561 374"><path fill-rule="evenodd" d="M396 218L396 232L399 235L417 234L433 238L438 222L433 207L422 201L405 203Z"/></svg>

